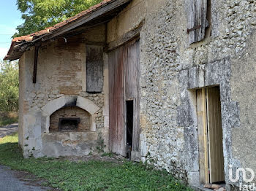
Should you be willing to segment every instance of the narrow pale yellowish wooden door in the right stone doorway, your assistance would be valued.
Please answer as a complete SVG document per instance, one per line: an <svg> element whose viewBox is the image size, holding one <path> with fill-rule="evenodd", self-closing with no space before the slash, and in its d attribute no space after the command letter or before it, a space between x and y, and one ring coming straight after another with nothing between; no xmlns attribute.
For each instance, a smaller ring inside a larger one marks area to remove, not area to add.
<svg viewBox="0 0 256 191"><path fill-rule="evenodd" d="M196 90L200 183L225 181L219 87Z"/></svg>

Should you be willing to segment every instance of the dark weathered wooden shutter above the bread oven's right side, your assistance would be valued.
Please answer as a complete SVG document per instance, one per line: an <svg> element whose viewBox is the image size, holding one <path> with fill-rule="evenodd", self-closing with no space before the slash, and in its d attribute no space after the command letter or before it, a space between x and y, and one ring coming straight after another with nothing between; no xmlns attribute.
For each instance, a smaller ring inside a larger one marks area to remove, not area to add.
<svg viewBox="0 0 256 191"><path fill-rule="evenodd" d="M86 91L100 93L103 87L103 47L86 46Z"/></svg>

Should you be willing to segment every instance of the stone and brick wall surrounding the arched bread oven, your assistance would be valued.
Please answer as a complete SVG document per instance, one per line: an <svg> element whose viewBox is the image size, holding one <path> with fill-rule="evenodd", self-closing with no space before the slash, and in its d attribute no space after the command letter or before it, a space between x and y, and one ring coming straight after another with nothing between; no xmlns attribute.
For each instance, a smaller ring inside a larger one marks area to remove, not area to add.
<svg viewBox="0 0 256 191"><path fill-rule="evenodd" d="M104 63L102 93L86 92L86 44L104 43L105 26L43 43L39 47L36 84L32 83L34 48L24 53L20 59L20 146L24 156L75 155L76 152L88 155L97 152L97 139L104 139L108 145L108 112L105 112L108 63ZM71 99L87 103L88 106L83 103L77 103L77 106L89 112L88 130L76 132L76 136L72 132L50 133L50 115ZM50 137L54 139L49 141Z"/></svg>

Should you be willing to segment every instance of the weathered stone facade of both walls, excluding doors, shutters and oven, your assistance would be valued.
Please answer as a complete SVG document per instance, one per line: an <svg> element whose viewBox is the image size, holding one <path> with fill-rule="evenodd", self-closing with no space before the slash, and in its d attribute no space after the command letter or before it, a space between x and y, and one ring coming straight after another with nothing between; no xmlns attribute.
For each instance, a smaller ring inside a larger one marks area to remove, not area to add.
<svg viewBox="0 0 256 191"><path fill-rule="evenodd" d="M91 33L83 34L81 43L70 39L71 43L66 45L64 39L59 39L45 44L39 50L38 82L35 85L31 82L33 51L26 52L20 58L20 116L23 117L20 117L19 136L24 155L45 155L42 141L56 140L47 134L41 139L47 130L41 131L43 119L40 112L49 101L63 96L86 98L99 110L93 113L95 128L91 128L90 135L66 133L60 139L61 144L69 149L79 147L80 155L86 155L90 149L81 152L83 146L79 146L78 137L85 137L82 140L89 141L89 147L93 148L98 133L102 132L108 146L108 52L105 53L102 93L86 93L85 44L89 41L105 43L105 39L108 44L118 42L121 36L142 23L141 160L165 168L191 185L199 185L193 90L219 85L225 182L233 184L228 177L229 165L233 165L234 171L239 167L256 171L256 3L252 0L211 0L211 36L194 44L189 44L187 34L186 4L185 0L134 0L110 20L107 31L105 26L91 29ZM90 136L90 140L86 136ZM70 151L70 155L74 153Z"/></svg>

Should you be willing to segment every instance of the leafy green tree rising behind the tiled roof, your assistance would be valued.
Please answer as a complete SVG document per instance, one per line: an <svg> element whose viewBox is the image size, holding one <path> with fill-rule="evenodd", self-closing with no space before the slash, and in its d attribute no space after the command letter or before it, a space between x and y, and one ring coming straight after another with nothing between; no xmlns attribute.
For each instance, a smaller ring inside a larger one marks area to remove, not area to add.
<svg viewBox="0 0 256 191"><path fill-rule="evenodd" d="M102 0L17 0L24 23L14 35L23 36L60 23Z"/></svg>

